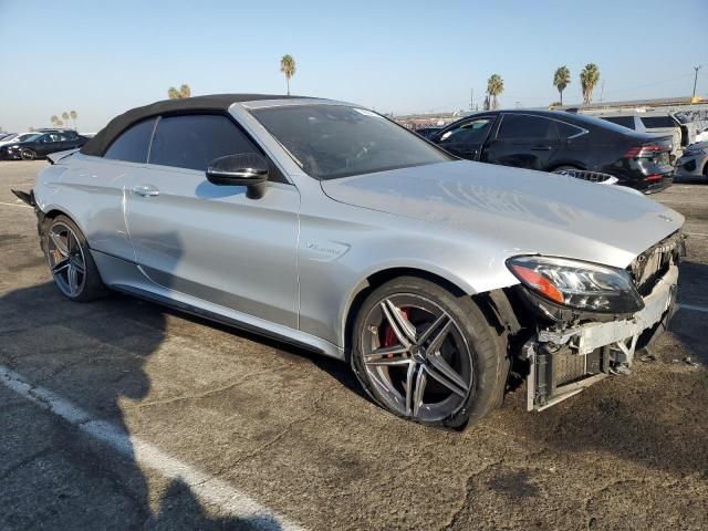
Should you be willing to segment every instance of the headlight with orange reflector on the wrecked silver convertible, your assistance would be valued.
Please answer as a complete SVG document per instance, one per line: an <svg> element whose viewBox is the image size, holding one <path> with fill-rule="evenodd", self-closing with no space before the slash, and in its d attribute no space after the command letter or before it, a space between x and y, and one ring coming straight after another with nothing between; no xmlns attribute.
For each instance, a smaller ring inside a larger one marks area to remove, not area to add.
<svg viewBox="0 0 708 531"><path fill-rule="evenodd" d="M602 313L644 308L629 273L622 269L546 257L513 257L507 267L529 290L556 304Z"/></svg>

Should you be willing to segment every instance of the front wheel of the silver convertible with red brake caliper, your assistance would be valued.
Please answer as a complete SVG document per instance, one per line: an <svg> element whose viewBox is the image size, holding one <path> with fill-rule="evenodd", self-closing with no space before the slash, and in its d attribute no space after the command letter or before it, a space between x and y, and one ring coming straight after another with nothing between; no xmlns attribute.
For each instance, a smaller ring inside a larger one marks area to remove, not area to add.
<svg viewBox="0 0 708 531"><path fill-rule="evenodd" d="M501 402L504 341L470 296L415 277L394 279L366 298L352 334L356 377L394 415L461 429Z"/></svg>

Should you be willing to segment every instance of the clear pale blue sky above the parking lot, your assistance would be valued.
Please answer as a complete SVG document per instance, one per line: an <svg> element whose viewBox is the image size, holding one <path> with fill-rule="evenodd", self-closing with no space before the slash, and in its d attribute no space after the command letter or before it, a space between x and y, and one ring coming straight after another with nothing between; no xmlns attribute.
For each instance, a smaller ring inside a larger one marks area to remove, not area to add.
<svg viewBox="0 0 708 531"><path fill-rule="evenodd" d="M605 101L690 95L698 64L708 96L707 21L708 0L0 0L0 126L75 110L95 132L180 83L284 93L285 53L294 94L396 114L469 108L470 90L481 106L492 73L502 106L548 105L562 64L579 102L589 62Z"/></svg>

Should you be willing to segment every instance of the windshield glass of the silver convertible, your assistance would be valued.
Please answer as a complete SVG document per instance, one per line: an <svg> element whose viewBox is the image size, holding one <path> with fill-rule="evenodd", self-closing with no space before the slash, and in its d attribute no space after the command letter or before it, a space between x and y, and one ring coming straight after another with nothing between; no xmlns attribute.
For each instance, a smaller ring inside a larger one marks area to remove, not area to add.
<svg viewBox="0 0 708 531"><path fill-rule="evenodd" d="M335 179L454 158L364 108L292 105L251 111L310 176Z"/></svg>

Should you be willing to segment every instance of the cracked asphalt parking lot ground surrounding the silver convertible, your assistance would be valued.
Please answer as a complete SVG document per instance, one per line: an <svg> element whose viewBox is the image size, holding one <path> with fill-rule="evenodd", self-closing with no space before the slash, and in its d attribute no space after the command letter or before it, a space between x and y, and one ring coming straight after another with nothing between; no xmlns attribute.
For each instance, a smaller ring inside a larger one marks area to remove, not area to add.
<svg viewBox="0 0 708 531"><path fill-rule="evenodd" d="M464 433L375 407L348 366L123 295L50 283L30 189L0 163L0 365L305 529L708 529L708 313L681 309L631 376L540 414L524 387ZM708 306L708 183L679 302ZM0 529L258 529L0 385ZM273 527L269 528L273 529Z"/></svg>

